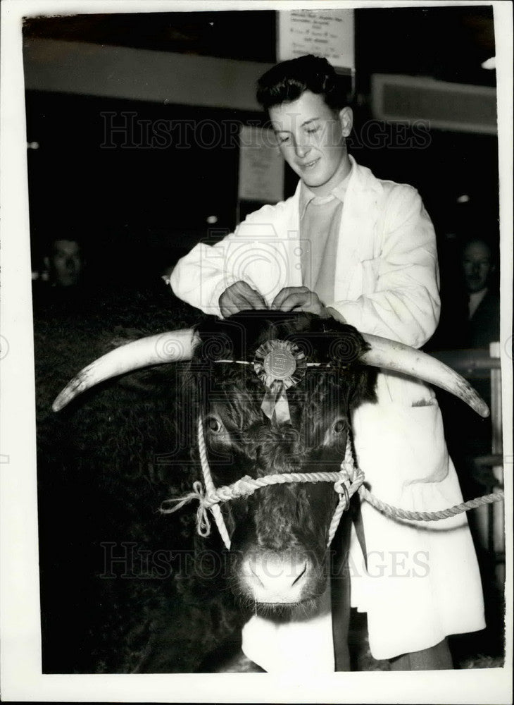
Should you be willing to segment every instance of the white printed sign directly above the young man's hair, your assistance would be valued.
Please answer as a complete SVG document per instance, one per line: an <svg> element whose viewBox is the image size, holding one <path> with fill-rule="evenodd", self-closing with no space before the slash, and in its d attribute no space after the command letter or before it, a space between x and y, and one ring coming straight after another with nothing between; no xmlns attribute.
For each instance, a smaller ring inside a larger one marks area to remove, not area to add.
<svg viewBox="0 0 514 705"><path fill-rule="evenodd" d="M277 60L314 54L355 70L353 10L278 11Z"/></svg>

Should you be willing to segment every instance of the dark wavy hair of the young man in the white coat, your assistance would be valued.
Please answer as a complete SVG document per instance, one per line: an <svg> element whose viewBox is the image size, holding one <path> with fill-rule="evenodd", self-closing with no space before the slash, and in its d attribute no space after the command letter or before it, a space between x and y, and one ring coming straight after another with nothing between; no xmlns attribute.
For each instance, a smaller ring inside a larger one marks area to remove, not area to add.
<svg viewBox="0 0 514 705"><path fill-rule="evenodd" d="M347 103L334 67L327 59L312 54L282 61L266 71L257 82L257 100L268 110L296 100L306 90L322 95L332 110L341 110Z"/></svg>

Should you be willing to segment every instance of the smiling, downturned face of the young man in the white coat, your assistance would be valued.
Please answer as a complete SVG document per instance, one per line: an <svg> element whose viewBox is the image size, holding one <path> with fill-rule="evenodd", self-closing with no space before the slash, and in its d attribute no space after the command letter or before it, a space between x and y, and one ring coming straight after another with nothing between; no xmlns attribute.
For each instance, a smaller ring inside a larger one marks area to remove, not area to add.
<svg viewBox="0 0 514 705"><path fill-rule="evenodd" d="M338 113L322 95L305 91L269 112L282 157L316 195L327 195L350 170L345 138L351 132L351 109Z"/></svg>

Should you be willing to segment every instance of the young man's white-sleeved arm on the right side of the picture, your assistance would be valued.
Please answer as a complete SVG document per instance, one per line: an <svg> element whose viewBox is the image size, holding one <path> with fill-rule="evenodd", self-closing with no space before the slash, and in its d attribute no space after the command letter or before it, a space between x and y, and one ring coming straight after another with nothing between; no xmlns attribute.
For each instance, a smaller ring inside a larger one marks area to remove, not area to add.
<svg viewBox="0 0 514 705"><path fill-rule="evenodd" d="M382 223L382 252L374 290L356 301L330 305L334 317L364 333L419 348L439 321L439 269L434 226L418 192L395 186L387 198Z"/></svg>

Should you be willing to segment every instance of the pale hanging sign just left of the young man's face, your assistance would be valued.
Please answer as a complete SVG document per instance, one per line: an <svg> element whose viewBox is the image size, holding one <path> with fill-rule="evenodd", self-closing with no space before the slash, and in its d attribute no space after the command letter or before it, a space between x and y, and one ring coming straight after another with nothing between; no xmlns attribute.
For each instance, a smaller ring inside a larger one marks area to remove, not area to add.
<svg viewBox="0 0 514 705"><path fill-rule="evenodd" d="M242 125L239 200L277 203L284 198L284 161L272 130Z"/></svg>

